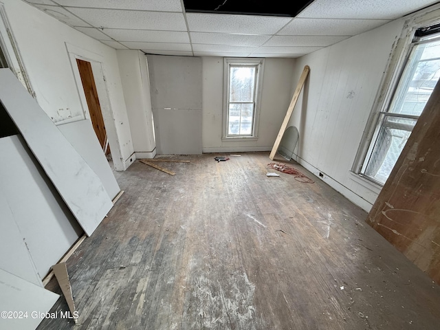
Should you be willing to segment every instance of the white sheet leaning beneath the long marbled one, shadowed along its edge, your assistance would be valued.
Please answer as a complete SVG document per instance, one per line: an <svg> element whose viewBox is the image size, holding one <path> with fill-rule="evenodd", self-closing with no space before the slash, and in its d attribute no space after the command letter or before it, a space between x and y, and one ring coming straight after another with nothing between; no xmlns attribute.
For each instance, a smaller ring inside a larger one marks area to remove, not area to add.
<svg viewBox="0 0 440 330"><path fill-rule="evenodd" d="M23 138L3 137L0 150L5 159L0 162L0 190L19 228L19 240L24 240L43 278L83 230ZM10 250L12 246L2 251Z"/></svg>

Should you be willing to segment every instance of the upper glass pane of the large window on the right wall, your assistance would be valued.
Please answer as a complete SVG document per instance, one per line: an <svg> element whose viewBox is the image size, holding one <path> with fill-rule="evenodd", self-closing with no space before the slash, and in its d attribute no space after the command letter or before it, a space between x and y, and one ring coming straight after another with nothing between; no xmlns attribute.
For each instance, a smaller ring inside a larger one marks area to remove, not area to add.
<svg viewBox="0 0 440 330"><path fill-rule="evenodd" d="M420 115L440 77L440 42L413 48L389 112Z"/></svg>

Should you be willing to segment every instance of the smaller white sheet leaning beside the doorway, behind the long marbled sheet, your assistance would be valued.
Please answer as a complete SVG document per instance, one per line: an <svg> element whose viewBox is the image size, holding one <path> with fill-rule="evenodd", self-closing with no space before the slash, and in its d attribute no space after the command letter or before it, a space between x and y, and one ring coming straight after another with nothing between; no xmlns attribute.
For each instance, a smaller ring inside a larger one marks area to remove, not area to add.
<svg viewBox="0 0 440 330"><path fill-rule="evenodd" d="M111 171L109 162L102 152L98 138L88 119L70 122L57 126L67 141L74 146L75 150L83 157L85 162L101 179L110 199L120 192L118 182Z"/></svg>

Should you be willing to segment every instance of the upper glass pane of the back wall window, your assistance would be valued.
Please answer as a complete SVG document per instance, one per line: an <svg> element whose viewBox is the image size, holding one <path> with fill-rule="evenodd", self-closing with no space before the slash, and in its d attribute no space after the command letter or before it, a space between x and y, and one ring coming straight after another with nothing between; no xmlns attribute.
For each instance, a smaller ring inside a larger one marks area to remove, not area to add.
<svg viewBox="0 0 440 330"><path fill-rule="evenodd" d="M256 67L230 66L230 102L252 102L254 100L255 73Z"/></svg>

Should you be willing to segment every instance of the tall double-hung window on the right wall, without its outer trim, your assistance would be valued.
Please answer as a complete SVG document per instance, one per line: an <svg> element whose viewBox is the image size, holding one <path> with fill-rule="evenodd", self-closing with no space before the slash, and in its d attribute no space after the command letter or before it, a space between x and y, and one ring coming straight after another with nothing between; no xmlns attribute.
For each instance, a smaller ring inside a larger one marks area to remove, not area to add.
<svg viewBox="0 0 440 330"><path fill-rule="evenodd" d="M415 37L391 102L380 111L361 175L385 183L439 77L440 34Z"/></svg>

